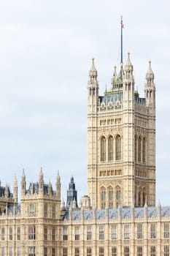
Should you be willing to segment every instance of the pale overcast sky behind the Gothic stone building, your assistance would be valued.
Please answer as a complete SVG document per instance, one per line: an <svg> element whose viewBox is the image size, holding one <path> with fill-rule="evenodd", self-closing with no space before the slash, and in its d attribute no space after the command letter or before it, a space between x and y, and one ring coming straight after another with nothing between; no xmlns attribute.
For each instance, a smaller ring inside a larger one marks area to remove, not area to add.
<svg viewBox="0 0 170 256"><path fill-rule="evenodd" d="M170 205L170 1L0 1L0 179L38 181L62 197L70 176L87 194L87 83L95 57L100 94L128 50L141 96L148 60L157 91L157 202Z"/></svg>

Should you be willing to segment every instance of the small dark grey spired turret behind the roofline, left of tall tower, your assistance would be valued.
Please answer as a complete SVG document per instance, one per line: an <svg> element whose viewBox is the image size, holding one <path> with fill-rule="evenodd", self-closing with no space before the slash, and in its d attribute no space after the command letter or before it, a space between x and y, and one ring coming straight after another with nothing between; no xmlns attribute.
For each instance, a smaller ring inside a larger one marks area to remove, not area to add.
<svg viewBox="0 0 170 256"><path fill-rule="evenodd" d="M67 190L66 207L69 208L73 206L73 202L74 206L77 208L77 190L75 189L74 178L72 176L69 183L69 190Z"/></svg>

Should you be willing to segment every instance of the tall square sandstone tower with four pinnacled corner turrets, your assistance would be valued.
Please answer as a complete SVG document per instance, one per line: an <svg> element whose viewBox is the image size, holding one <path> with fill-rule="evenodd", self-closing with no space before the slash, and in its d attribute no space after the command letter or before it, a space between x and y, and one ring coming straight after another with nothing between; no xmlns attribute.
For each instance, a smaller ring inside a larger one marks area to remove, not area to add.
<svg viewBox="0 0 170 256"><path fill-rule="evenodd" d="M88 80L88 195L96 208L155 206L155 84L151 61L144 98L134 90L130 53L98 96L94 59Z"/></svg>

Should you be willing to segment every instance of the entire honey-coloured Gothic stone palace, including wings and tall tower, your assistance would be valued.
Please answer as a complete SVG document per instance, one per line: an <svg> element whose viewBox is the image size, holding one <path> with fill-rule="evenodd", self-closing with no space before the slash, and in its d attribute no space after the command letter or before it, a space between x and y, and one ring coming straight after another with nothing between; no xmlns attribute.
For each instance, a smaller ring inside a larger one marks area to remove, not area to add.
<svg viewBox="0 0 170 256"><path fill-rule="evenodd" d="M151 62L144 98L134 89L130 53L98 94L92 59L88 79L88 195L77 204L71 177L66 204L61 178L42 169L13 191L0 184L0 256L169 256L170 207L155 206L155 83Z"/></svg>

